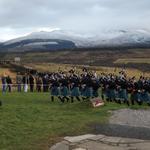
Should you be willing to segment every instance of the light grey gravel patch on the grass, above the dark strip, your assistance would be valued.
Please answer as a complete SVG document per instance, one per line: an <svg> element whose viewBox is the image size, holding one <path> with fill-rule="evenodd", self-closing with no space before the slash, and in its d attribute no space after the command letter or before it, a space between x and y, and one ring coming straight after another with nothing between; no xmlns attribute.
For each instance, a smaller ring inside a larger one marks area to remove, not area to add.
<svg viewBox="0 0 150 150"><path fill-rule="evenodd" d="M121 109L113 111L109 123L150 128L150 110Z"/></svg>

